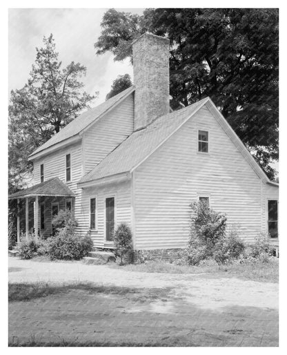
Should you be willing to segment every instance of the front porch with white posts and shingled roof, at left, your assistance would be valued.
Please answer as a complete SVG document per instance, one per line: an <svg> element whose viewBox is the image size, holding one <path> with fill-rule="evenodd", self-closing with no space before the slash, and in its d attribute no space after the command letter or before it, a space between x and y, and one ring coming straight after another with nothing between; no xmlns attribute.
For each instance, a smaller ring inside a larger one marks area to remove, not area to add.
<svg viewBox="0 0 287 355"><path fill-rule="evenodd" d="M9 195L9 200L17 200L17 242L21 234L34 234L47 238L52 235L52 218L60 209L73 209L75 194L59 178Z"/></svg>

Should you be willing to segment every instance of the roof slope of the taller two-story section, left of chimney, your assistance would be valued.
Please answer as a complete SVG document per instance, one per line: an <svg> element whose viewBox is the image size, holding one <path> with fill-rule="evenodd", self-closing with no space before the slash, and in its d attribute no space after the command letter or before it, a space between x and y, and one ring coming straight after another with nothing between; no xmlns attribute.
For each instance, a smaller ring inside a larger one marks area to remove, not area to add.
<svg viewBox="0 0 287 355"><path fill-rule="evenodd" d="M103 115L111 108L119 104L119 102L125 99L134 90L135 87L131 86L130 88L123 90L121 93L115 95L114 97L111 97L99 106L96 106L95 108L89 108L88 111L82 113L77 118L73 119L72 122L67 124L66 127L61 129L61 131L59 131L59 133L50 138L50 140L39 146L39 148L37 148L36 151L34 151L30 155L30 157L39 153L40 151L45 150L46 148L50 148L50 146L53 146L64 140L68 140L68 138L70 137L78 135L79 133L81 133L81 131L90 126L90 124L93 124L101 115Z"/></svg>

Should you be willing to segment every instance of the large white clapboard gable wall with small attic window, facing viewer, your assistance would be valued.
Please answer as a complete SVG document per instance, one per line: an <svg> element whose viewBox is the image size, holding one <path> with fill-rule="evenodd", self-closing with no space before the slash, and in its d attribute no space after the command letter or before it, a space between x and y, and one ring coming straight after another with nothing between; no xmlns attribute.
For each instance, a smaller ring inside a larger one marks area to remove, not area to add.
<svg viewBox="0 0 287 355"><path fill-rule="evenodd" d="M198 130L209 153L198 153ZM244 240L261 231L261 180L205 106L135 171L136 249L185 247L190 203L208 195Z"/></svg>

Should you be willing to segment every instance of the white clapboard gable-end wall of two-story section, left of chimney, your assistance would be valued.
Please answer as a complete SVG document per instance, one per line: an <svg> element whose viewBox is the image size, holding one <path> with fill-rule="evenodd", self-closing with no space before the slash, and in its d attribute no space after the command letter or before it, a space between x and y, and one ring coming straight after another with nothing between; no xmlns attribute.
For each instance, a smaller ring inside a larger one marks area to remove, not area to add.
<svg viewBox="0 0 287 355"><path fill-rule="evenodd" d="M88 173L133 130L133 94L129 95L83 135L84 171Z"/></svg>

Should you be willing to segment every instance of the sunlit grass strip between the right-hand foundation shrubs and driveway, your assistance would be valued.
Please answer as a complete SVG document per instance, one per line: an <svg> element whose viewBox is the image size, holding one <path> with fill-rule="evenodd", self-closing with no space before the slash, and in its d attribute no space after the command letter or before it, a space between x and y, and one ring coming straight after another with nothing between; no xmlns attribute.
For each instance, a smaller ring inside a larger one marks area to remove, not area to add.
<svg viewBox="0 0 287 355"><path fill-rule="evenodd" d="M217 276L236 276L247 280L259 282L278 282L279 280L279 259L273 258L270 262L244 262L241 264L227 265L173 265L168 262L146 262L146 264L112 265L124 271L137 271L163 274L217 274Z"/></svg>

